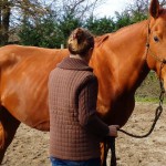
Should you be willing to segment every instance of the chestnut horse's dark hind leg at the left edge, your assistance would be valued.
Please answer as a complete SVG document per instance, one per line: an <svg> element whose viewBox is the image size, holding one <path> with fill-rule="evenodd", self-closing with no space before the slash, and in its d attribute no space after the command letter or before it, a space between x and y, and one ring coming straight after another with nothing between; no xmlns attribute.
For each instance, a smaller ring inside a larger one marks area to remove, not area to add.
<svg viewBox="0 0 166 166"><path fill-rule="evenodd" d="M15 120L4 107L0 107L0 164L4 153L13 139L20 122Z"/></svg>

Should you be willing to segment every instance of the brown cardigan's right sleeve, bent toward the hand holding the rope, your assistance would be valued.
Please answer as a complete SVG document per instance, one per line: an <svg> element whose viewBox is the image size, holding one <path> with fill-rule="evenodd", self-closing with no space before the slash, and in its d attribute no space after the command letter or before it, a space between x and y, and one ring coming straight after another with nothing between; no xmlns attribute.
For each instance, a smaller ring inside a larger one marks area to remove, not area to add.
<svg viewBox="0 0 166 166"><path fill-rule="evenodd" d="M108 126L96 114L97 79L86 81L79 95L79 122L87 132L97 136L107 136Z"/></svg>

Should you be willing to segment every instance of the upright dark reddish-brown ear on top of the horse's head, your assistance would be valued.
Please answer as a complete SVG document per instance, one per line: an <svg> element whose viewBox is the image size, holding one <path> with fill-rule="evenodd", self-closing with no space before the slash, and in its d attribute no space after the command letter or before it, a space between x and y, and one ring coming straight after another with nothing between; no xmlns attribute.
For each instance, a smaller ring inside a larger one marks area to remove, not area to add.
<svg viewBox="0 0 166 166"><path fill-rule="evenodd" d="M159 2L158 0L152 0L149 7L149 13L153 18L158 18L159 15Z"/></svg>

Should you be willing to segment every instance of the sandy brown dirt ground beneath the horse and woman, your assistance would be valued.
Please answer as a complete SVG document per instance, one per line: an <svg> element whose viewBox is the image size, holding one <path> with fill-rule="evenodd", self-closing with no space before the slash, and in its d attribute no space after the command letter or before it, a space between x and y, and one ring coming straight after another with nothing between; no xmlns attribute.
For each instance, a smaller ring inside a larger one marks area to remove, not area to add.
<svg viewBox="0 0 166 166"><path fill-rule="evenodd" d="M158 104L136 103L134 113L123 127L144 134L151 127ZM117 166L164 166L166 160L166 105L151 136L132 138L118 133L116 138ZM3 166L50 166L49 133L21 125L8 148Z"/></svg>

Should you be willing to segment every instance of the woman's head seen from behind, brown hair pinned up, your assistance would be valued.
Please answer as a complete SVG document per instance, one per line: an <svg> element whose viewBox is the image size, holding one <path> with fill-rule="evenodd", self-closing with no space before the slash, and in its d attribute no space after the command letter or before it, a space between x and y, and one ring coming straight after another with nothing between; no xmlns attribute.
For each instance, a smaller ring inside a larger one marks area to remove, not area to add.
<svg viewBox="0 0 166 166"><path fill-rule="evenodd" d="M87 30L77 28L71 33L68 46L71 54L85 56L94 48L94 38Z"/></svg>

